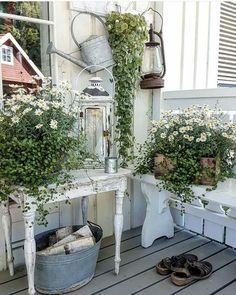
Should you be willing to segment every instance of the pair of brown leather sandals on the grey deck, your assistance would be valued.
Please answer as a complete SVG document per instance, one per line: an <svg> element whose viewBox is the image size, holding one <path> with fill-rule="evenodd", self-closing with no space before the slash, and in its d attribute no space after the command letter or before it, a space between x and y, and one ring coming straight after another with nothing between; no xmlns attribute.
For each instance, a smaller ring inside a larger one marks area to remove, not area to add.
<svg viewBox="0 0 236 295"><path fill-rule="evenodd" d="M208 278L212 273L212 265L207 261L198 261L196 255L182 254L162 259L156 265L156 271L161 275L171 274L175 285L184 286Z"/></svg>

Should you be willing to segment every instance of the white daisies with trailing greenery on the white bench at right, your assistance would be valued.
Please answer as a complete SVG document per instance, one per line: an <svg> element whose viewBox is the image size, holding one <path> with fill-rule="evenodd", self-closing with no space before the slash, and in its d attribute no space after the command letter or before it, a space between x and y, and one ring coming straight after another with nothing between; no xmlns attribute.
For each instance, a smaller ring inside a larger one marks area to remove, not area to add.
<svg viewBox="0 0 236 295"><path fill-rule="evenodd" d="M193 184L212 179L211 189L219 181L233 176L236 163L236 125L225 123L219 110L192 106L179 113L165 112L160 121L153 121L147 141L141 146L136 173L154 171L154 156L163 154L157 186L166 189L183 202L195 196ZM202 163L203 157L215 158L212 167Z"/></svg>

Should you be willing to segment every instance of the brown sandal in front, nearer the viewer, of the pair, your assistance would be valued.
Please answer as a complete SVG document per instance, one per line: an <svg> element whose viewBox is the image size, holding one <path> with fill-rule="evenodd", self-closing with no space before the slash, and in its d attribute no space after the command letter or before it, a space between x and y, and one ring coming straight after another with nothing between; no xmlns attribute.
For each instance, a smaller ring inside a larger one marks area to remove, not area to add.
<svg viewBox="0 0 236 295"><path fill-rule="evenodd" d="M212 274L212 265L207 261L187 261L184 268L171 274L172 282L177 286L187 285L195 280L203 280Z"/></svg>

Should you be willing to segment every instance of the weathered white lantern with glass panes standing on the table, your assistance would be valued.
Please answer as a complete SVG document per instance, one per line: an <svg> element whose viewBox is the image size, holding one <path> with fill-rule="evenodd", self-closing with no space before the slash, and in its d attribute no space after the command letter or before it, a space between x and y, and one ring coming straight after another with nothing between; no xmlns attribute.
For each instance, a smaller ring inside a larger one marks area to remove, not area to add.
<svg viewBox="0 0 236 295"><path fill-rule="evenodd" d="M106 68L104 69L112 78L110 81L113 83L114 92L113 76L110 71ZM90 85L76 99L80 109L79 131L86 138L87 152L96 156L96 159L104 164L105 157L113 154L112 125L114 100L112 95L114 93L109 95L102 87L102 79L100 77L92 77L89 81ZM87 162L89 165L89 159Z"/></svg>

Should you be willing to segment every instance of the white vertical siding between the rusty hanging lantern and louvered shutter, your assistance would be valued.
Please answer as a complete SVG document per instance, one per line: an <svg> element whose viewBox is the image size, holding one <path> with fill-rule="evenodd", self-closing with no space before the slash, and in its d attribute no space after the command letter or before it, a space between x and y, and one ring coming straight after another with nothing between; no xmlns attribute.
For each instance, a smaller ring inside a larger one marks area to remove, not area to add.
<svg viewBox="0 0 236 295"><path fill-rule="evenodd" d="M217 87L219 1L163 3L165 91Z"/></svg>

